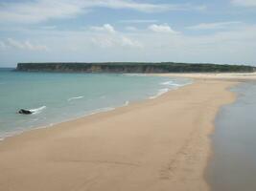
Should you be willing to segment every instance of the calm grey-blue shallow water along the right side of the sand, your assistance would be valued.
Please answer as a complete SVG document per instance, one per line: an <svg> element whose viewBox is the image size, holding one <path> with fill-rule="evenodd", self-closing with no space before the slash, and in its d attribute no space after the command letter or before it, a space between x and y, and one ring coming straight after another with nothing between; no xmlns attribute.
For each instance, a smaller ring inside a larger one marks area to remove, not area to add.
<svg viewBox="0 0 256 191"><path fill-rule="evenodd" d="M256 190L256 82L231 91L235 103L223 106L212 136L214 155L208 167L213 191Z"/></svg>

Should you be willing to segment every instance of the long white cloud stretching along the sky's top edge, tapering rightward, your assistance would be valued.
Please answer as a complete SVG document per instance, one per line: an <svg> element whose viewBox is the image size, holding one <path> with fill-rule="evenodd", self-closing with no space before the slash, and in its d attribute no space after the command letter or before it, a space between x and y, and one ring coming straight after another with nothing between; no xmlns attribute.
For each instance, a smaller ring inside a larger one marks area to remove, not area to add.
<svg viewBox="0 0 256 191"><path fill-rule="evenodd" d="M76 17L95 8L142 12L205 10L204 6L191 4L153 4L135 0L34 0L22 3L1 3L0 22L38 23L50 19Z"/></svg>

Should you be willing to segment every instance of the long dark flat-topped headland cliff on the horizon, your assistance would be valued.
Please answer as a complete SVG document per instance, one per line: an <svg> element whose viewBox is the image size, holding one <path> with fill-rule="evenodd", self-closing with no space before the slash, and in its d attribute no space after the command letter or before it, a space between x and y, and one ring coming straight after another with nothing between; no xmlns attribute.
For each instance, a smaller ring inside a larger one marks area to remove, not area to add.
<svg viewBox="0 0 256 191"><path fill-rule="evenodd" d="M61 73L234 73L254 72L244 65L186 63L18 63L16 71Z"/></svg>

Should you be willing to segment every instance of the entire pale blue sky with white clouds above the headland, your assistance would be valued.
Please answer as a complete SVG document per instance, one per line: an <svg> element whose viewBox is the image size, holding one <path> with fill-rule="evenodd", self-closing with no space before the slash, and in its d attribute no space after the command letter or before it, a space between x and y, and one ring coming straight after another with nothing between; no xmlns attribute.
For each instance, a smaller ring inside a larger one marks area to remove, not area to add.
<svg viewBox="0 0 256 191"><path fill-rule="evenodd" d="M0 0L0 67L174 61L256 66L256 0Z"/></svg>

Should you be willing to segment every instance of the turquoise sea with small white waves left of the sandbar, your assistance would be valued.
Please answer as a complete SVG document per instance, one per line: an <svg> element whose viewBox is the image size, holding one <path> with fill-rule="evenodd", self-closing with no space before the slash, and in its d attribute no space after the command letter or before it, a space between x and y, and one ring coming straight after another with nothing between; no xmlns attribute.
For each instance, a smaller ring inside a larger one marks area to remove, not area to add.
<svg viewBox="0 0 256 191"><path fill-rule="evenodd" d="M145 74L51 74L0 70L0 138L159 96L188 79ZM29 109L33 115L17 114Z"/></svg>

